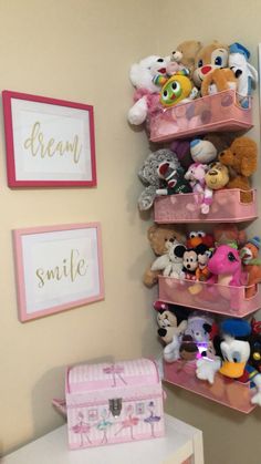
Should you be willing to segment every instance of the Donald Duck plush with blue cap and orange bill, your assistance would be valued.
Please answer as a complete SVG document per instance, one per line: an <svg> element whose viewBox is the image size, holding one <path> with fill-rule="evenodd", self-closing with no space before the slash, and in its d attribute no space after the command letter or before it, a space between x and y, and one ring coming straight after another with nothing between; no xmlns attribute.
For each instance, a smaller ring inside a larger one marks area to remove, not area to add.
<svg viewBox="0 0 261 464"><path fill-rule="evenodd" d="M261 406L261 373L249 364L251 326L243 319L226 319L221 323L222 337L216 337L213 344L220 355L213 359L201 358L197 361L196 375L213 383L215 374L220 372L240 382L250 381L257 392L251 396L252 404Z"/></svg>

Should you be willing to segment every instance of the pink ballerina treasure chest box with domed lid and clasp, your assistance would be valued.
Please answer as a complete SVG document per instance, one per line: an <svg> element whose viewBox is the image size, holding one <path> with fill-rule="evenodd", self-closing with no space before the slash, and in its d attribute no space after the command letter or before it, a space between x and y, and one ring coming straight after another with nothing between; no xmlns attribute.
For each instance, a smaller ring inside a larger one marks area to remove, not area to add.
<svg viewBox="0 0 261 464"><path fill-rule="evenodd" d="M161 382L149 359L69 368L65 391L71 448L164 435Z"/></svg>

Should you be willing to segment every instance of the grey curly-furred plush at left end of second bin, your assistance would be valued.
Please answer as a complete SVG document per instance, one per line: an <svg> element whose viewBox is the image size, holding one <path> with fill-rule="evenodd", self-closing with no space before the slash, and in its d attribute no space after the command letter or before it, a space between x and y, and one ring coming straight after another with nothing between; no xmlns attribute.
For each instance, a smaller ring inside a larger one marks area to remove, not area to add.
<svg viewBox="0 0 261 464"><path fill-rule="evenodd" d="M138 172L138 177L146 185L138 198L138 207L140 212L152 208L156 198L158 188L166 185L158 176L158 166L163 162L171 163L177 169L180 167L179 161L174 152L167 148L157 149L150 153Z"/></svg>

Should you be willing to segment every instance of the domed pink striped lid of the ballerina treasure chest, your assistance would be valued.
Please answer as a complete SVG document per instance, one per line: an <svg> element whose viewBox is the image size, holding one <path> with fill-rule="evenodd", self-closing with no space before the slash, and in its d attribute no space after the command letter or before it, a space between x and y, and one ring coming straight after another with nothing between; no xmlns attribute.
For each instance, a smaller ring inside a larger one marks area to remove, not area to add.
<svg viewBox="0 0 261 464"><path fill-rule="evenodd" d="M142 358L116 363L82 364L67 369L66 392L155 385L160 382L154 361Z"/></svg>

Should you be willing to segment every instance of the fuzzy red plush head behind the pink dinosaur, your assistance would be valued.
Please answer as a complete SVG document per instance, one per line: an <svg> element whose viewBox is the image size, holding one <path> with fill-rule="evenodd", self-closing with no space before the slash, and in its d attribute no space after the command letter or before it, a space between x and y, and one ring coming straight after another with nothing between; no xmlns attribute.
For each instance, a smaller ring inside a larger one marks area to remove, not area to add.
<svg viewBox="0 0 261 464"><path fill-rule="evenodd" d="M241 247L247 241L244 230L239 230L236 224L221 223L213 226L215 246L229 245L232 248Z"/></svg>

